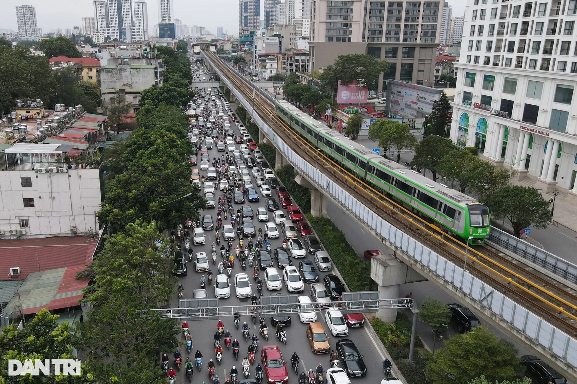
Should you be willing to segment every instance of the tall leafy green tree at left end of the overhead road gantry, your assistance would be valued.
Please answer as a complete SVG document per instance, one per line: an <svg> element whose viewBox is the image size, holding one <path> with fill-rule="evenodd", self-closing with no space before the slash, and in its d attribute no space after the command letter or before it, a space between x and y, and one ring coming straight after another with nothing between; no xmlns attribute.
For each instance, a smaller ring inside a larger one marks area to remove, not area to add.
<svg viewBox="0 0 577 384"><path fill-rule="evenodd" d="M157 238L164 240L160 248ZM174 258L164 256L167 244L156 223L129 223L107 239L86 271L93 284L83 301L94 307L90 320L78 325L77 345L91 351L87 365L95 382L166 382L158 354L177 347L177 320L143 310L162 307L174 293Z"/></svg>

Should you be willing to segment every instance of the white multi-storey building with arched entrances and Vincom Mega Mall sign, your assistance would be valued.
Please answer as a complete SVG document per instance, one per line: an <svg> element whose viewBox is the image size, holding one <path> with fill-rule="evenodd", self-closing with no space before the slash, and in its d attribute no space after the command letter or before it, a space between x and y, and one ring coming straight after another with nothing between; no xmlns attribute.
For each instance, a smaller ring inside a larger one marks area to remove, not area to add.
<svg viewBox="0 0 577 384"><path fill-rule="evenodd" d="M576 0L467 1L451 124L457 145L574 201L575 24Z"/></svg>

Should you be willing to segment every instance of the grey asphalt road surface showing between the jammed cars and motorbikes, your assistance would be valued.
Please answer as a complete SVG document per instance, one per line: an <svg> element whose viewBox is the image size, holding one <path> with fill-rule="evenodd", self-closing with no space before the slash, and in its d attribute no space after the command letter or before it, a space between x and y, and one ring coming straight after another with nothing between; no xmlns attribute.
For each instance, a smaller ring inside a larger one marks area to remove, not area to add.
<svg viewBox="0 0 577 384"><path fill-rule="evenodd" d="M201 69L201 67L194 65L193 66L193 73L197 73L197 71L199 71ZM202 68L204 70L204 67ZM203 81L205 80L209 80L208 74L204 74L204 75L200 75L200 77L197 78L197 75L194 75L195 80L196 81ZM206 89L205 89L206 92ZM212 89L212 94L217 94L217 96L215 97L217 100L220 98L220 96L218 96L220 94L219 90L215 90ZM212 101L212 95L209 95L208 92L206 92L207 97L209 100L203 101L205 103L207 103L206 108L204 109L203 113L208 113L208 107L209 104L215 104L215 101ZM224 103L223 103L224 104ZM230 122L231 122L231 128L234 130L234 138L236 138L236 136L241 136L241 132L239 131L239 127L235 126L234 120L232 119L233 114L231 114L230 112L226 111L226 107L223 105L224 108L224 115L229 115L231 117ZM234 111L235 106L231 105L230 106L231 110ZM216 115L217 118L217 123L219 122L218 120L218 112ZM224 120L223 120L224 121ZM211 130L208 130L211 131ZM207 137L210 136L210 132L207 135ZM220 140L223 140L224 138L222 137L222 135L219 136ZM212 149L208 149L208 157L210 160L210 162L212 162L213 158L219 158L222 154L225 154L226 152L219 152L217 150L217 145L216 145L216 140L215 143L212 147ZM246 140L243 141L243 143L246 143ZM204 146L204 143L202 144L202 146ZM240 143L235 143L236 148L238 149L240 146ZM230 151L229 154L233 154L233 151ZM253 155L254 157L254 155ZM201 159L200 159L200 152L198 153L198 163L197 165L191 165L192 169L198 169L199 173L200 173L200 177L207 177L207 170L201 170ZM250 179L252 181L252 184L254 186L254 188L256 189L256 191L258 192L259 195L259 201L256 202L250 202L248 201L248 199L246 199L245 203L242 204L236 204L233 201L233 207L234 210L237 210L238 208L240 208L242 205L248 205L252 208L253 212L254 212L254 218L253 218L253 223L254 226L256 227L256 230L258 232L258 228L262 228L263 229L263 233L264 233L264 229L265 229L265 224L266 222L261 221L258 222L257 220L257 208L258 207L265 207L266 209L266 205L265 205L265 199L266 197L260 196L261 195L261 191L260 188L257 185L257 180L256 177L253 176L252 170L251 168L249 168L249 172L250 172ZM276 176L275 176L276 177ZM279 197L276 194L276 191L274 188L272 188L272 198L275 199L277 202L279 202ZM204 192L204 187L201 184L201 192ZM219 191L219 189L217 188L215 191L215 199L217 200L217 206L218 206L218 198L223 196L223 192ZM245 197L247 197L245 195ZM284 215L287 215L287 210L282 208L279 204L279 208L278 210L283 211ZM267 210L268 213L268 222L273 222L273 212ZM216 216L217 216L217 208L207 208L203 211L200 212L200 218L202 218L204 215L212 215L212 218L214 220L214 225L216 228L216 224L217 224L217 220L216 220ZM306 220L306 217L305 217ZM230 216L228 216L227 220L224 220L223 218L223 225L225 224L230 224ZM282 231L280 231L280 226L279 227L279 238L276 239L271 239L271 250L274 250L275 248L282 248L282 242L284 239L284 235L282 233ZM236 227L235 227L236 230ZM208 257L210 258L211 255L211 245L212 242L215 241L215 230L205 230L205 244L204 245L192 245L192 249L193 249L193 253L197 253L197 252L206 252ZM256 239L258 237L258 233L256 234L256 236L253 237L253 241L256 242ZM300 237L299 237L300 238ZM217 248L217 264L218 262L221 260L220 257L220 245L225 245L226 246L226 242L223 239L223 232L222 229L220 230L220 239L221 242L219 245L216 246ZM302 239L302 238L301 238ZM244 245L246 245L246 242L248 241L248 237L244 237L243 238L244 241ZM235 239L233 240L233 249L236 245L238 245L239 243L239 238L238 236L235 236ZM191 236L191 244L192 244L192 236ZM264 249L264 248L263 248ZM271 251L272 254L272 251ZM186 254L186 260L188 260L188 253ZM314 261L314 256L306 253L306 256L304 258L293 258L293 265L295 267L298 267L298 262L301 260L310 260L310 261ZM273 260L276 261L276 260ZM256 262L256 260L255 260ZM278 267L275 263L275 267ZM218 273L217 270L217 265L213 264L212 262L209 263L209 268L211 268L212 272L215 274L213 275L216 276L216 274ZM193 262L189 262L187 264L187 275L186 276L180 276L179 277L179 282L182 284L182 286L184 287L184 291L183 291L183 298L184 299L191 299L193 298L193 290L197 290L200 288L200 278L201 275L205 275L205 272L195 272L195 268L194 268L194 263ZM282 275L283 270L277 268L279 275ZM256 287L256 283L252 277L252 267L250 267L249 265L247 265L246 271L243 271L239 261L237 260L237 258L235 257L235 265L234 268L232 270L231 273L231 277L230 277L230 288L231 288L231 295L229 298L225 298L225 299L220 299L220 304L221 305L226 305L226 306L234 306L235 304L239 304L239 305L248 305L249 304L249 300L248 298L242 298L239 299L236 296L236 292L235 292L235 287L234 287L234 276L237 273L247 273L249 275L249 280L252 283L252 291L253 293L257 294L257 287ZM226 274L226 269L225 269L225 274ZM331 273L329 272L319 272L319 282L322 282L323 280L323 276L325 276L327 273ZM263 295L270 295L272 293L272 291L269 291L267 289L267 284L264 282L264 271L260 270L260 276L263 279L263 283L264 283L264 287L263 287ZM214 281L213 281L214 283ZM309 289L310 289L310 285L308 283L304 284L304 291L301 293L298 293L299 296L301 295L309 295ZM206 287L207 290L207 294L209 298L213 298L215 297L215 288L212 285L208 285ZM281 295L288 295L290 294L287 291L287 287L286 284L284 282L282 282L282 289L280 291L275 291L275 293L280 293ZM173 302L171 303L171 307L175 308L178 307L178 299L175 297ZM241 318L241 325L243 321L246 321L249 324L250 327L250 334L253 334L253 331L256 331L256 328L253 326L250 318L244 318L246 316L243 316L243 318ZM223 353L223 359L222 359L222 363L219 365L216 365L216 374L219 376L220 379L220 383L224 383L226 381L226 379L228 377L230 377L230 375L228 374L228 372L230 372L231 367L233 365L236 366L236 368L239 371L239 380L244 379L243 375L242 375L242 367L241 367L241 362L242 362L242 358L243 356L246 356L247 353L247 348L249 343L245 342L245 340L242 338L242 330L239 328L238 330L235 328L234 326L234 322L233 322L233 318L223 318L222 321L224 322L224 330L230 330L233 340L234 339L238 339L239 343L240 343L240 355L238 360L234 359L234 356L232 354L232 348L230 350L227 350L227 348L224 348L224 353ZM299 357L301 358L301 365L299 367L299 372L300 371L308 371L309 368L314 368L317 366L317 364L321 363L323 364L324 370L326 371L329 368L329 355L327 353L325 354L320 354L320 355L316 355L314 353L312 353L311 347L310 347L310 343L309 340L306 336L306 328L308 324L304 324L301 323L299 321L299 317L298 315L294 315L291 318L291 325L288 325L285 327L286 329L286 334L287 334L287 344L283 345L282 343L280 343L276 337L275 337L275 329L274 327L271 325L271 318L267 317L265 318L266 324L269 326L269 340L265 341L264 337L261 337L260 334L258 334L258 337L260 338L260 341L258 342L258 352L255 356L256 358L256 362L254 363L254 366L251 367L251 371L250 371L250 376L249 378L254 379L254 367L256 367L257 363L261 363L261 347L265 346L265 345L279 345L280 351L282 352L283 355L283 359L285 362L287 362L286 367L287 367L287 371L288 371L288 382L289 383L298 383L298 375L295 374L295 372L293 370L291 370L291 366L290 366L290 357L293 354L293 352L297 352ZM353 340L355 345L357 346L357 348L359 349L359 352L364 355L364 362L366 364L367 367L367 375L365 377L362 378L362 381L370 381L370 382L380 382L381 379L383 378L383 372L381 370L381 362L382 359L384 358L384 354L383 352L380 350L380 347L378 346L379 344L377 344L372 337L369 336L368 330L365 327L360 327L360 328L349 328L349 336L339 336L339 337L335 337L332 336L332 334L330 334L329 328L327 326L327 323L325 321L324 318L324 313L317 313L317 321L320 322L321 324L323 324L325 331L327 332L328 336L330 337L329 339L329 344L331 349L335 349L335 343L339 340L342 339L350 339ZM189 321L189 326L190 326L190 331L191 334L193 336L193 347L190 351L190 354L187 353L186 351L186 345L184 343L184 337L179 336L179 340L182 342L182 346L179 348L179 351L182 352L182 356L183 356L183 362L184 360L186 360L187 357L190 357L190 360L192 360L194 362L194 352L196 352L197 350L200 350L200 352L203 354L203 365L202 365L202 370L200 372L198 372L198 370L196 370L195 368L195 373L194 373L194 377L193 377L193 382L197 382L197 383L201 383L201 382L205 382L207 384L209 384L210 380L208 377L208 370L207 370L207 363L209 359L214 359L215 363L216 363L216 359L215 359L215 353L214 353L214 347L213 347L213 334L216 332L216 321L205 321L205 320L192 320ZM257 331L258 332L258 331ZM171 357L171 366L173 366L173 359L172 359L172 352L174 351L166 351L167 355ZM342 367L342 364L340 365L340 367ZM264 381L267 380L267 377L265 375L264 377ZM355 381L359 381L359 379L355 379L355 378L351 378L351 381L354 383ZM185 377L185 370L183 368L183 366L181 367L181 370L178 372L178 377L177 377L177 382L187 382L186 377ZM332 384L337 384L337 383L332 383Z"/></svg>

